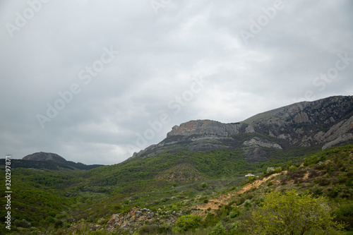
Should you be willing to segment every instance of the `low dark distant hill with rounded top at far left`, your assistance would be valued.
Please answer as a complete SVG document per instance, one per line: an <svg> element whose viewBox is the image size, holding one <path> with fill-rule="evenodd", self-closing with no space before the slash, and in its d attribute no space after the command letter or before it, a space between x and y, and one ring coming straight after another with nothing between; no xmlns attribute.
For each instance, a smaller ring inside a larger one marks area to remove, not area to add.
<svg viewBox="0 0 353 235"><path fill-rule="evenodd" d="M5 165L5 159L0 159L0 166ZM66 161L64 157L52 152L35 152L27 155L22 159L11 159L11 167L18 168L33 168L33 169L52 169L58 170L60 167L64 169L81 169L89 170L97 167L102 167L100 164L86 165L83 163L76 163Z"/></svg>

